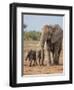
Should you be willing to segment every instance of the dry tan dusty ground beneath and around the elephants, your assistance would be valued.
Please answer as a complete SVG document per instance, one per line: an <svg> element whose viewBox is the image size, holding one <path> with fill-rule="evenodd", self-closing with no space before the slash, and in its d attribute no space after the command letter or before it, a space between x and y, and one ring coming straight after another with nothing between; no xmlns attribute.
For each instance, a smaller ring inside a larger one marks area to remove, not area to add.
<svg viewBox="0 0 74 90"><path fill-rule="evenodd" d="M23 75L36 75L36 74L53 74L63 72L63 50L60 55L59 63L60 65L50 65L48 64L47 54L45 54L44 66L29 66L29 61L25 61L25 57L30 49L39 50L40 46L38 41L24 41L23 50ZM46 51L46 49L45 49Z"/></svg>

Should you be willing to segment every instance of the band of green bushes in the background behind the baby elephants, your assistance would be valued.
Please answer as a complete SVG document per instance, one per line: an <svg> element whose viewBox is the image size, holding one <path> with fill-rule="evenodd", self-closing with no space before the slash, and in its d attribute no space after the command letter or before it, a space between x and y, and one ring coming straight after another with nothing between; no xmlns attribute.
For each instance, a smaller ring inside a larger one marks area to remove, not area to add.
<svg viewBox="0 0 74 90"><path fill-rule="evenodd" d="M25 31L24 32L24 40L40 40L40 32L37 31Z"/></svg>

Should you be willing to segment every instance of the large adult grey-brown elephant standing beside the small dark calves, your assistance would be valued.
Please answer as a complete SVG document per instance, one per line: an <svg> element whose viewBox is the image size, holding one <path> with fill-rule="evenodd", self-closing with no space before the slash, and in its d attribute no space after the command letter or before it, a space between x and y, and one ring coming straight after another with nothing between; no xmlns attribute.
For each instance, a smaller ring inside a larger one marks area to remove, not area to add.
<svg viewBox="0 0 74 90"><path fill-rule="evenodd" d="M46 42L49 64L51 65L51 55L53 56L53 63L59 64L59 56L62 50L62 39L63 39L63 30L59 25L45 25L42 28L41 34L41 61L42 65L44 64L44 44Z"/></svg>

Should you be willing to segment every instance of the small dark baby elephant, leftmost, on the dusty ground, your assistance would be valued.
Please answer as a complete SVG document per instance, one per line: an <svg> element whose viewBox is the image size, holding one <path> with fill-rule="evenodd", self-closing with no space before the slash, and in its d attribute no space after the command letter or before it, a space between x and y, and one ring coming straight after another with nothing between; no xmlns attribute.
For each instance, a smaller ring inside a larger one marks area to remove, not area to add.
<svg viewBox="0 0 74 90"><path fill-rule="evenodd" d="M30 61L30 67L32 66L32 61L34 61L33 65L37 65L37 61L36 61L36 51L35 50L30 50L27 54L26 60L29 59Z"/></svg>

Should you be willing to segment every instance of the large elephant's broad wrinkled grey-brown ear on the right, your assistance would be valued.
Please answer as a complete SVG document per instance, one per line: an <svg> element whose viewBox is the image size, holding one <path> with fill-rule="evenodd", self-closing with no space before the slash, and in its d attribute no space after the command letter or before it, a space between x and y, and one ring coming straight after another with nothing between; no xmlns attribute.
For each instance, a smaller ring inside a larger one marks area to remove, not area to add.
<svg viewBox="0 0 74 90"><path fill-rule="evenodd" d="M53 34L52 34L52 38L51 38L51 43L55 43L59 39L62 39L62 38L63 38L63 30L60 28L59 25L56 25L53 28Z"/></svg>

